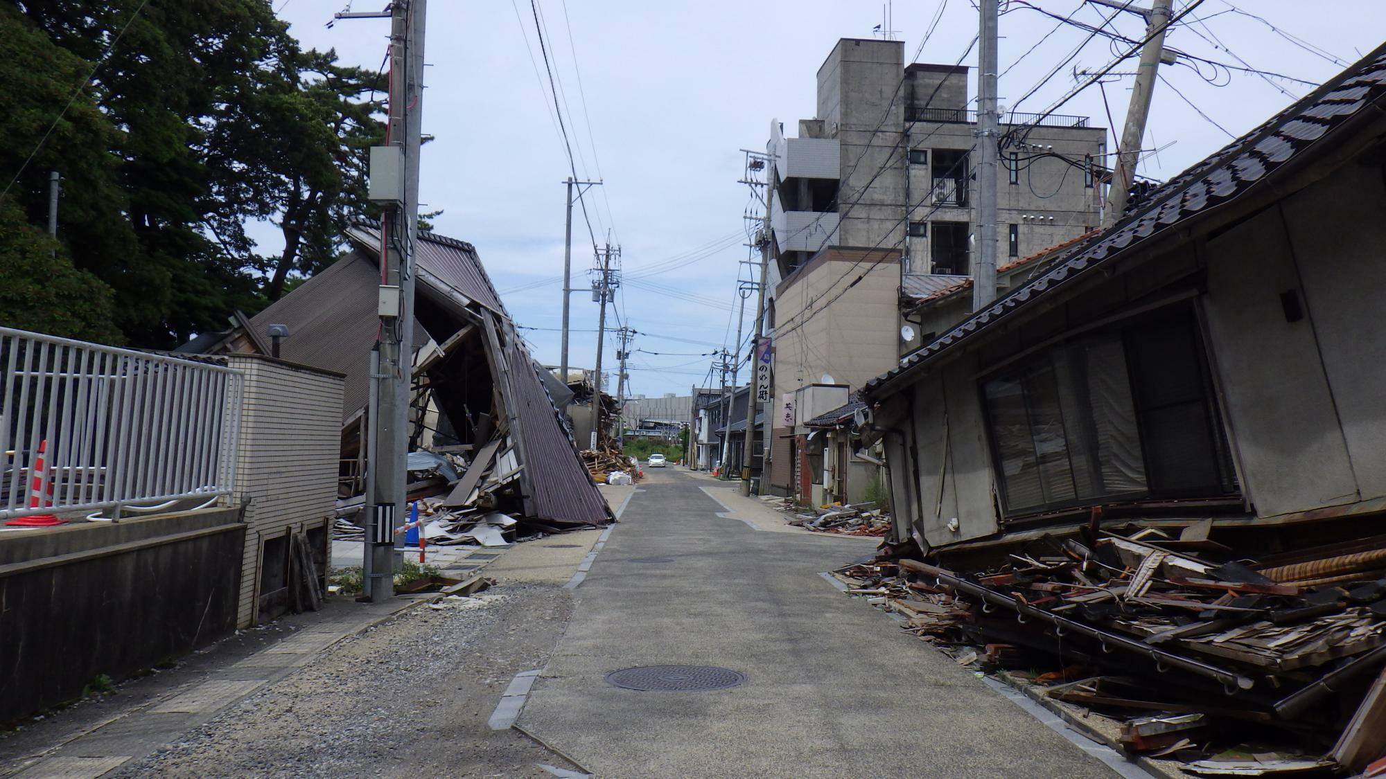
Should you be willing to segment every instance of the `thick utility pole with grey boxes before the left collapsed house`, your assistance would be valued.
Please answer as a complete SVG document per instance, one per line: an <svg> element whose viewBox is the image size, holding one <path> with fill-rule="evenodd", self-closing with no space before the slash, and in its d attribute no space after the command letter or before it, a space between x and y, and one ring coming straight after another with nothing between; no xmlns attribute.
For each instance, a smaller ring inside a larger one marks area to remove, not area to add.
<svg viewBox="0 0 1386 779"><path fill-rule="evenodd" d="M423 119L424 19L427 0L395 0L389 7L389 123L388 155L376 169L391 194L381 216L380 338L371 377L374 408L370 421L370 463L366 478L365 586L371 602L395 593L395 528L405 514L406 457L409 455L409 396L413 378L414 247L419 233L419 147ZM377 18L383 14L338 14L338 18ZM402 170L401 170L402 168Z"/></svg>

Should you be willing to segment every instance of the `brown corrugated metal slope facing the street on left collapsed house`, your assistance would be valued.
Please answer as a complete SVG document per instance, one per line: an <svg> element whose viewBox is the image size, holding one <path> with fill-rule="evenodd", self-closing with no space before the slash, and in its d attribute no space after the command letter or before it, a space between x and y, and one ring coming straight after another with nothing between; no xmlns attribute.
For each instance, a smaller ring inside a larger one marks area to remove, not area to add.
<svg viewBox="0 0 1386 779"><path fill-rule="evenodd" d="M606 499L578 456L529 351L513 327L506 329L510 363L510 402L520 417L520 446L534 513L560 524L602 525L608 520Z"/></svg>

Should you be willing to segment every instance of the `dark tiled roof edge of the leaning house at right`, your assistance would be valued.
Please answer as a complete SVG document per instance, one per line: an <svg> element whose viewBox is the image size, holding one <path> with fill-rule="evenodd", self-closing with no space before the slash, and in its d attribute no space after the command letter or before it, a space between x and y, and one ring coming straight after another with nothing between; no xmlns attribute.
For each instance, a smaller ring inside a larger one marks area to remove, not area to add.
<svg viewBox="0 0 1386 779"><path fill-rule="evenodd" d="M1013 313L1044 292L1058 288L1085 270L1127 254L1152 237L1206 209L1225 204L1274 176L1275 170L1321 143L1335 128L1364 107L1386 97L1386 46L1378 47L1351 68L1277 114L1260 128L1222 147L1150 194L1146 204L1116 227L1076 247L1052 269L1017 287L1006 297L963 320L936 341L904 359L900 366L872 378L865 392L873 395L912 373L941 352L963 342L988 324Z"/></svg>

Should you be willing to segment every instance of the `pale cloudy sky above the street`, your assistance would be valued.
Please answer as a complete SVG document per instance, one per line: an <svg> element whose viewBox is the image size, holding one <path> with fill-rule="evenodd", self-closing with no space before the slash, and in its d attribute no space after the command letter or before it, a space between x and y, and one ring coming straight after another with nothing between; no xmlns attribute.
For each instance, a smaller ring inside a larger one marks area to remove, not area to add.
<svg viewBox="0 0 1386 779"><path fill-rule="evenodd" d="M346 64L380 67L388 21L344 21L328 29L326 22L344 0L274 3L305 44L335 49ZM355 11L384 4L351 3ZM1089 25L1114 12L1084 7L1081 0L1030 4ZM1188 6L1178 0L1175 10ZM642 333L633 344L631 391L686 394L707 376L710 358L700 353L735 340L736 279L747 277L739 262L748 252L742 245L748 190L736 183L739 150L764 148L772 119L793 133L797 119L814 115L818 67L839 37L872 37L881 4L542 0L538 8L549 61L561 82L560 107L578 176L606 182L588 198L592 229L599 243L610 231L629 276L617 308L621 322ZM1386 30L1386 3L1379 0L1236 0L1236 8L1264 21L1236 12L1225 0L1203 0L1191 17L1203 21L1175 28L1166 44L1319 83L1379 46ZM977 11L967 0L897 1L893 12L890 26L904 40L906 61L936 18L916 61L958 62L977 33ZM1117 14L1107 29L1143 36L1143 22L1131 14ZM1001 105L1028 112L1066 94L1076 85L1074 68L1110 62L1116 46L1100 36L1084 44L1088 32L1015 1L1001 17ZM1060 67L1080 46L1077 57ZM557 365L568 161L529 0L434 0L426 54L431 67L424 132L437 140L424 148L420 198L426 209L442 209L435 219L439 233L475 244L510 315L535 329L524 331L535 356ZM976 49L963 64L976 67ZM1015 105L1056 67L1038 91ZM1177 175L1221 148L1228 133L1249 130L1311 89L1209 65L1202 73L1185 65L1160 72L1168 85L1155 90L1143 144L1157 151L1143 158L1141 169L1157 179ZM1106 103L1103 89L1092 86L1058 112L1110 126L1110 108L1120 125L1130 83L1130 76L1106 83ZM273 248L273 233L263 231L266 248ZM572 265L574 287L586 286L593 258L581 211L574 219ZM651 268L658 273L640 277ZM753 297L748 308L754 304ZM571 365L590 367L596 320L590 294L574 294ZM608 366L614 348L608 340L603 356Z"/></svg>

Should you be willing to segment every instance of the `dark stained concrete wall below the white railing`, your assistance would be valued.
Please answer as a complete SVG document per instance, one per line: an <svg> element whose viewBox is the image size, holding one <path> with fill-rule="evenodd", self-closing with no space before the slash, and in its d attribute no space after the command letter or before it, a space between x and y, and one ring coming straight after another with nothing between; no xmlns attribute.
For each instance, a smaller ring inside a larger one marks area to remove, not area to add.
<svg viewBox="0 0 1386 779"><path fill-rule="evenodd" d="M244 538L237 509L0 532L0 722L230 632Z"/></svg>

